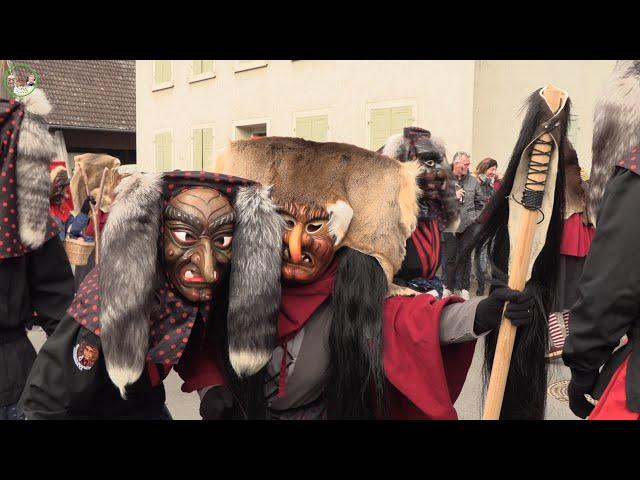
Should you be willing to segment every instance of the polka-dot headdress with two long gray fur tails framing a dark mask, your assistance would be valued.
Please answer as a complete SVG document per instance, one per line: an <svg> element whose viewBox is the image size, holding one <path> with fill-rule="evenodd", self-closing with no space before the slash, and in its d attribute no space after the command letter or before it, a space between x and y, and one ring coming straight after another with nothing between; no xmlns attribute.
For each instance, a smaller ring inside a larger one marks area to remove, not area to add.
<svg viewBox="0 0 640 480"><path fill-rule="evenodd" d="M271 358L280 306L283 222L267 187L205 172L134 173L116 187L102 237L101 339L107 372L124 392L145 365L164 207L185 188L213 188L236 210L229 278L229 359L239 376Z"/></svg>

